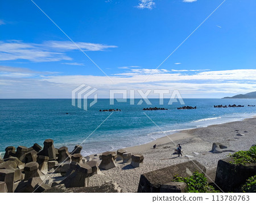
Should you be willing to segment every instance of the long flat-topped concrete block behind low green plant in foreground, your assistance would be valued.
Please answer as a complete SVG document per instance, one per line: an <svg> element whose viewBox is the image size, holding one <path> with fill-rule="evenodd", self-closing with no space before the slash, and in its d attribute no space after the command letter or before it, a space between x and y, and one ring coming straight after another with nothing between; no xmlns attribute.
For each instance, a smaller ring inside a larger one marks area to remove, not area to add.
<svg viewBox="0 0 256 203"><path fill-rule="evenodd" d="M160 192L160 187L170 183L174 176L189 177L196 171L203 173L201 169L206 172L202 164L193 160L144 173L139 180L138 192Z"/></svg>

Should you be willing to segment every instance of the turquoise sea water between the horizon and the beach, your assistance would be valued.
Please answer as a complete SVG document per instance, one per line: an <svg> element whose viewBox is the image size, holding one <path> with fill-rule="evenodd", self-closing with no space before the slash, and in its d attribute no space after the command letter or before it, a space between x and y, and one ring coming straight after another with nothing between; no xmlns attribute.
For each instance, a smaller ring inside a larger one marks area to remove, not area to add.
<svg viewBox="0 0 256 203"><path fill-rule="evenodd" d="M256 114L256 107L247 106L256 105L256 100L184 99L186 106L197 106L191 110L177 110L183 106L179 102L167 105L169 100L164 100L164 105L159 105L157 99L150 101L152 105L130 105L129 101L109 105L109 100L100 99L85 111L72 106L69 99L0 100L0 152L7 146L31 147L34 143L43 146L44 140L49 138L54 140L55 147L67 146L72 151L111 114L100 109L122 111L114 112L86 139L82 144L83 155L143 144L164 136L152 121L172 134L181 129L240 121ZM245 107L213 108L213 105L234 103ZM155 106L169 110L142 110Z"/></svg>

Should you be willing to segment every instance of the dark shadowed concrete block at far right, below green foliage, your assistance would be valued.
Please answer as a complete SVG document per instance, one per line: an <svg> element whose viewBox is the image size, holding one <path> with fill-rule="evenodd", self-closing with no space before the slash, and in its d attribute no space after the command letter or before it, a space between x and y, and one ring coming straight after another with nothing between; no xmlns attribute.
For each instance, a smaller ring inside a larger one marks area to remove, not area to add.
<svg viewBox="0 0 256 203"><path fill-rule="evenodd" d="M256 163L241 165L232 164L232 158L218 161L215 183L224 192L233 192L241 184L256 175Z"/></svg>

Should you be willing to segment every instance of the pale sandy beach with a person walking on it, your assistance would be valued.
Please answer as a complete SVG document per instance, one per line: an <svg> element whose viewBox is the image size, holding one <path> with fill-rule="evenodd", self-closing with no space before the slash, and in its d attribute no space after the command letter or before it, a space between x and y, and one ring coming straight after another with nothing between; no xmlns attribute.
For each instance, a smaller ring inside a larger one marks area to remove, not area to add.
<svg viewBox="0 0 256 203"><path fill-rule="evenodd" d="M214 171L218 160L226 158L231 152L213 154L210 152L213 142L220 142L234 151L248 150L253 144L256 144L255 130L256 118L254 117L200 129L184 130L151 143L128 147L126 148L127 152L144 156L143 167L133 168L129 164L117 161L117 167L102 171L104 175L90 177L89 186L102 185L104 182L112 181L119 185L122 192L137 192L141 174L188 161L189 158L185 158L185 155L193 156L192 160L197 160L205 165L208 171ZM237 131L245 136L238 136ZM174 155L174 149L178 143L183 149L182 157ZM154 144L156 144L155 149L152 148ZM98 160L98 164L100 164L100 160Z"/></svg>

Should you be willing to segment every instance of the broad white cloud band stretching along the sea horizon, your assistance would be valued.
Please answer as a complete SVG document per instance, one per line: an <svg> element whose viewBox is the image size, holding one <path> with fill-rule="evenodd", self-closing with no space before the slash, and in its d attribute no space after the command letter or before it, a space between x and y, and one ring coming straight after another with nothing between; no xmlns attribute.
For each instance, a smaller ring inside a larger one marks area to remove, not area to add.
<svg viewBox="0 0 256 203"><path fill-rule="evenodd" d="M143 82L151 73L154 74ZM107 98L109 89L177 89L184 98L224 97L256 89L256 69L205 72L131 69L110 77L114 83L106 76L49 74L0 66L0 97L70 98L71 91L83 83L97 88L99 98Z"/></svg>

